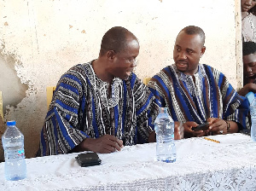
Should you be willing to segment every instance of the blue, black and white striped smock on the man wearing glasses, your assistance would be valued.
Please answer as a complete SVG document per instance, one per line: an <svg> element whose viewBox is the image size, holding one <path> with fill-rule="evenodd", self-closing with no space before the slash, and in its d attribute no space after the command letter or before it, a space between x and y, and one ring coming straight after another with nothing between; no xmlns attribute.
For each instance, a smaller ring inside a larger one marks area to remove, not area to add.
<svg viewBox="0 0 256 191"><path fill-rule="evenodd" d="M49 105L37 155L68 153L86 137L105 134L118 137L124 145L147 142L158 104L136 74L118 83L113 94L118 95L117 104L109 107L108 83L96 77L91 62L62 75Z"/></svg>

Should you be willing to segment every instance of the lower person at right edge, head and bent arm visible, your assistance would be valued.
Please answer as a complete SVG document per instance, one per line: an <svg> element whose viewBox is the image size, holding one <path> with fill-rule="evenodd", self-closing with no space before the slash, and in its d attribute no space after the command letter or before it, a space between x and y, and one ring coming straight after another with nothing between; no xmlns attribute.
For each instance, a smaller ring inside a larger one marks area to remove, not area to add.
<svg viewBox="0 0 256 191"><path fill-rule="evenodd" d="M253 98L256 93L256 43L242 43L243 61L243 88L238 91L241 96L246 96L252 92Z"/></svg>

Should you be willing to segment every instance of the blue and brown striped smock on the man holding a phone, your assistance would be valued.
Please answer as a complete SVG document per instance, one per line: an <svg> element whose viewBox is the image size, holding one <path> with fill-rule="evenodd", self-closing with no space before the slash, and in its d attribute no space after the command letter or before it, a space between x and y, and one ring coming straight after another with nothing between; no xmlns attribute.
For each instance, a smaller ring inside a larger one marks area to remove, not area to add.
<svg viewBox="0 0 256 191"><path fill-rule="evenodd" d="M200 64L192 77L177 71L173 64L156 74L148 88L160 101L160 107L168 107L174 121L202 124L208 118L218 118L247 128L247 99L239 96L224 74L212 67Z"/></svg>

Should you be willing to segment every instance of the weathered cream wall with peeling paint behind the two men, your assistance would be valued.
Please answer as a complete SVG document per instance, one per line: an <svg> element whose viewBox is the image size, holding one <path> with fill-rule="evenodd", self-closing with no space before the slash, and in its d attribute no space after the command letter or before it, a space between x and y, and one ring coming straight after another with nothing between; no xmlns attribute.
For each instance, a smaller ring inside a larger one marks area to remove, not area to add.
<svg viewBox="0 0 256 191"><path fill-rule="evenodd" d="M172 64L173 43L184 26L201 26L207 36L201 62L223 71L235 88L239 83L234 0L0 0L0 10L5 120L17 121L28 158L38 149L45 88L73 65L95 59L112 26L124 26L139 39L140 78Z"/></svg>

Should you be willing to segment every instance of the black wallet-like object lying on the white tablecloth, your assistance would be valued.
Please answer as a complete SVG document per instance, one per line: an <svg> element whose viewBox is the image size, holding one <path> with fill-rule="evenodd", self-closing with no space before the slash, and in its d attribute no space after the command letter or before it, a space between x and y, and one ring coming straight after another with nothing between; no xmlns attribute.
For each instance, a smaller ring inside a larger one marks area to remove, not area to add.
<svg viewBox="0 0 256 191"><path fill-rule="evenodd" d="M97 153L79 153L75 158L82 167L90 165L101 165L102 160Z"/></svg>

